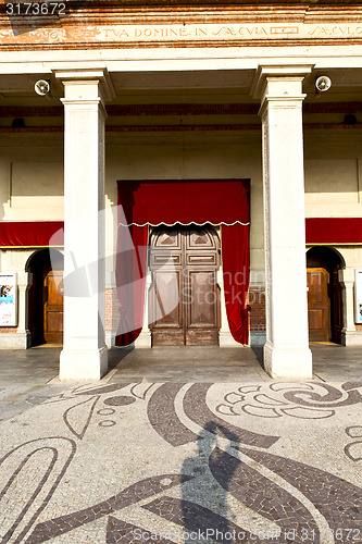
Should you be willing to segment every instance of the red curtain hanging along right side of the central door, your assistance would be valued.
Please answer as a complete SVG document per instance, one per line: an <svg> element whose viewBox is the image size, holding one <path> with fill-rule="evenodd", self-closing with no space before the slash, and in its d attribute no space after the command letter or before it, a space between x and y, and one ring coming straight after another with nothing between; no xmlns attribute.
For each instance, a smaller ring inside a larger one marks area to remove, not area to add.
<svg viewBox="0 0 362 544"><path fill-rule="evenodd" d="M250 307L246 300L250 271L249 225L222 225L222 255L228 326L236 342L248 344Z"/></svg>

